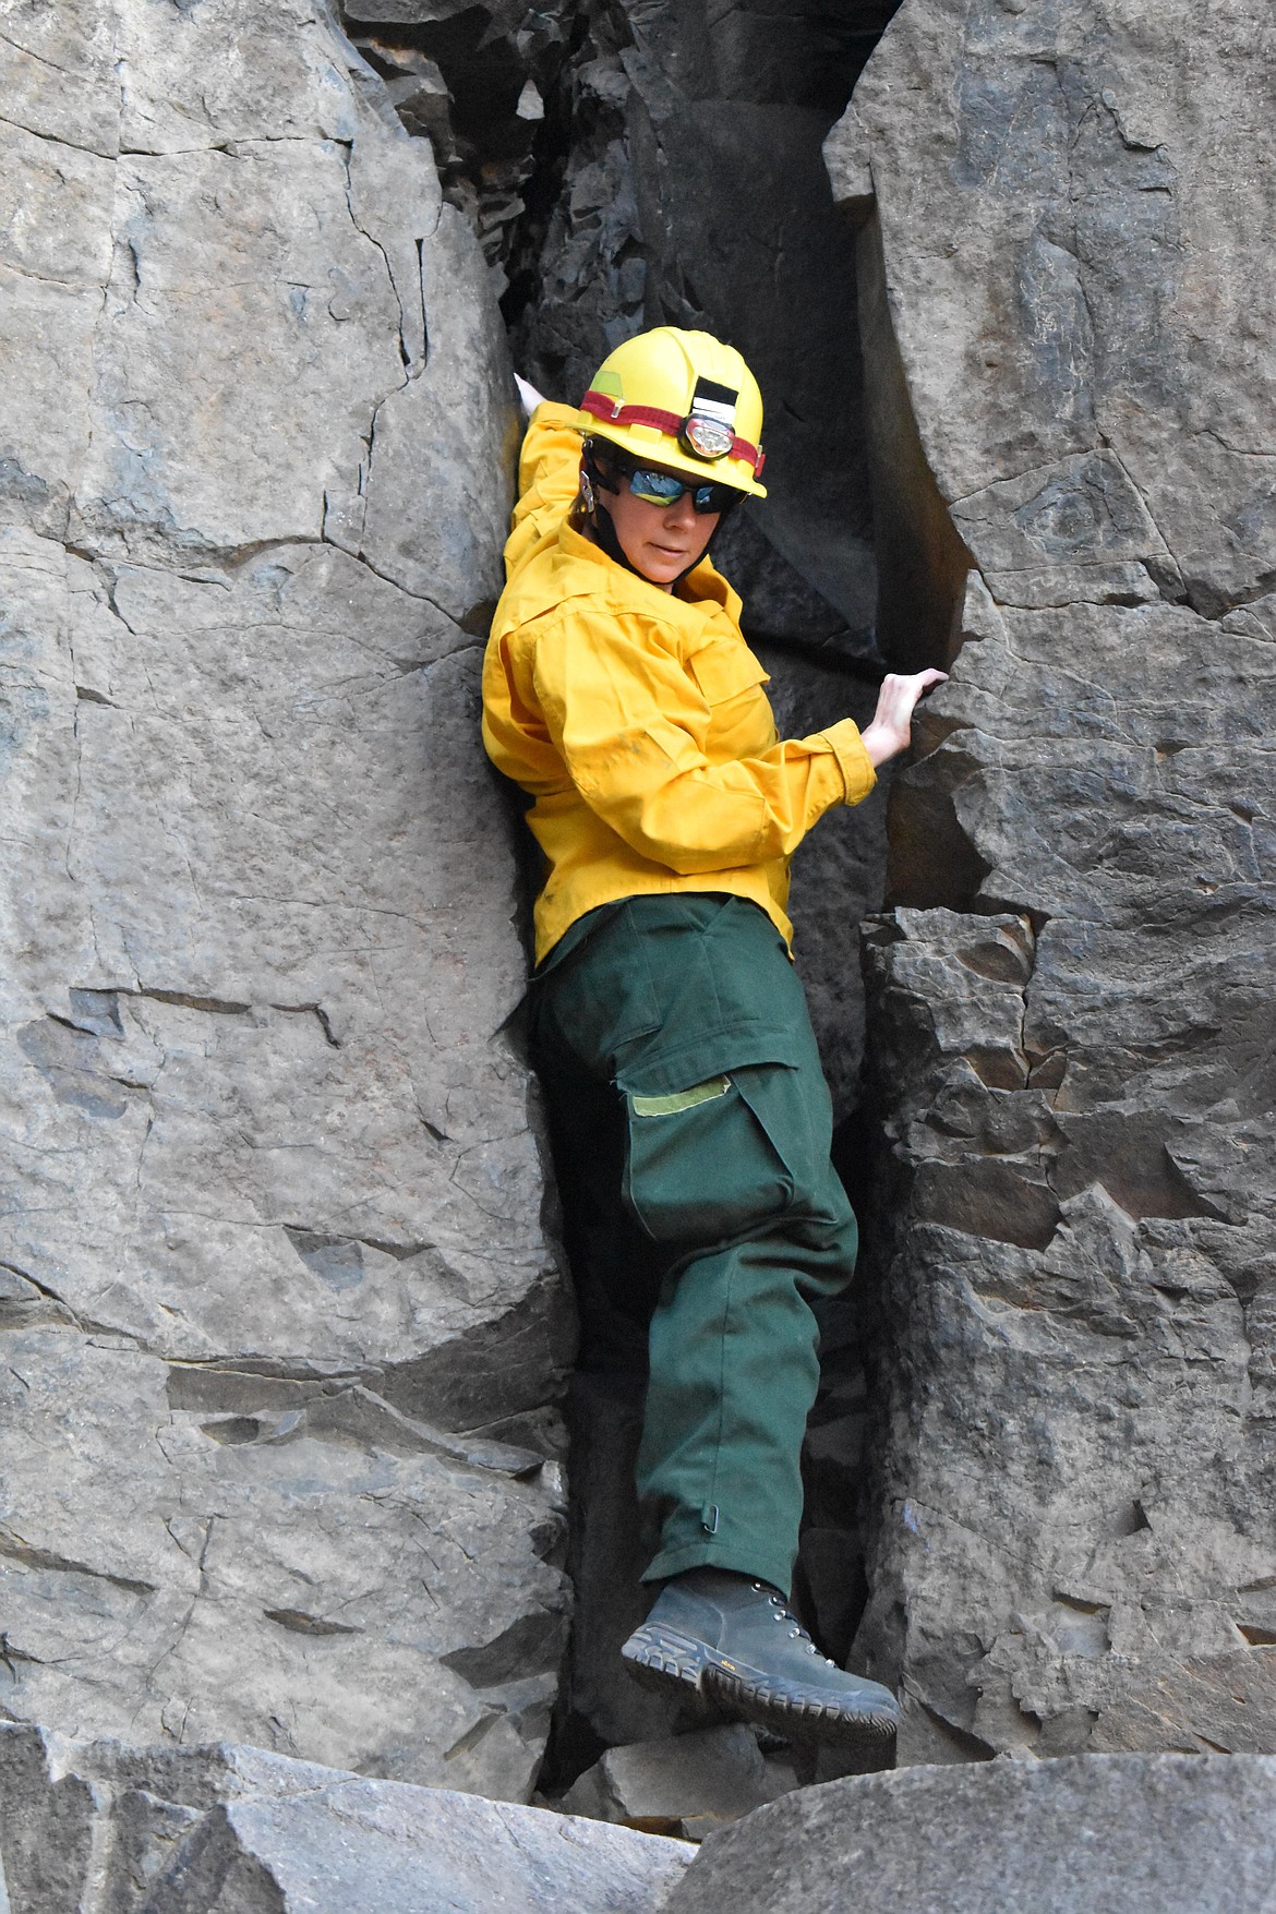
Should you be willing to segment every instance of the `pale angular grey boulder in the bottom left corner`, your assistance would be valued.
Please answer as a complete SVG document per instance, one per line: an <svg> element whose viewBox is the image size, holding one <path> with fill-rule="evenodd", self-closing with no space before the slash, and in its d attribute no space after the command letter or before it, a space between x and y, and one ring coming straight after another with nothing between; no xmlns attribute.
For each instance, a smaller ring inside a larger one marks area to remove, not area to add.
<svg viewBox="0 0 1276 1914"><path fill-rule="evenodd" d="M656 1914L691 1849L254 1747L4 1725L0 1857L8 1914Z"/></svg>

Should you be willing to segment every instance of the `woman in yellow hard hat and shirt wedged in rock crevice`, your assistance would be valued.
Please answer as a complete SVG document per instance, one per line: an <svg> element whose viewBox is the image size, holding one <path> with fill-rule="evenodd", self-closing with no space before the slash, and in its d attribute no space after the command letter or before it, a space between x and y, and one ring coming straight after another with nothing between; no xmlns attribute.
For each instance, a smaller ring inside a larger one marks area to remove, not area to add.
<svg viewBox="0 0 1276 1914"><path fill-rule="evenodd" d="M890 1690L825 1661L786 1608L811 1305L849 1280L855 1217L784 903L794 848L872 790L943 674L886 678L863 737L847 718L777 741L706 557L765 498L761 394L735 348L658 327L610 354L580 412L522 390L484 743L530 794L547 863L532 1043L582 1367L647 1372L660 1594L622 1652L781 1732L882 1742Z"/></svg>

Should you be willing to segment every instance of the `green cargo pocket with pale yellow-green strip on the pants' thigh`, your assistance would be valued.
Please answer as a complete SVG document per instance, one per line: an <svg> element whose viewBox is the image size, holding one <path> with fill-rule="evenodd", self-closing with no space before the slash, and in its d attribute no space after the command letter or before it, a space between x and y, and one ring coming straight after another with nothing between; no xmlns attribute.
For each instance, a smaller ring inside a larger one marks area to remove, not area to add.
<svg viewBox="0 0 1276 1914"><path fill-rule="evenodd" d="M748 1076L758 1074L750 1066ZM788 1210L794 1179L782 1139L769 1133L756 1101L729 1074L662 1097L626 1091L624 1200L652 1242L733 1242Z"/></svg>

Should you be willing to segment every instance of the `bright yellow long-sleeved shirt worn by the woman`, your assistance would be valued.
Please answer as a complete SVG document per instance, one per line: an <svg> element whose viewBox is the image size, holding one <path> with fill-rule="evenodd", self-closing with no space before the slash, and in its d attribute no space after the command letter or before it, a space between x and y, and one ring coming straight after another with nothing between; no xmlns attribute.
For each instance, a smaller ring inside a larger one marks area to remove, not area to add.
<svg viewBox="0 0 1276 1914"><path fill-rule="evenodd" d="M788 859L876 773L857 725L779 743L740 599L708 559L662 591L568 523L572 406L538 406L522 442L505 591L482 678L488 756L532 796L549 863L536 959L599 903L721 890L786 942Z"/></svg>

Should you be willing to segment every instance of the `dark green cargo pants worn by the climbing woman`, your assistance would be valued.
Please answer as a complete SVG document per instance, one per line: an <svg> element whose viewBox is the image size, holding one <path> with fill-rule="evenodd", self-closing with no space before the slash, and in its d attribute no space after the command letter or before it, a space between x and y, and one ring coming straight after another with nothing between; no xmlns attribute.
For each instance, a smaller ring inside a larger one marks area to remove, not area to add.
<svg viewBox="0 0 1276 1914"><path fill-rule="evenodd" d="M647 1372L647 1581L712 1564L788 1594L811 1305L855 1267L802 984L763 911L717 894L582 919L532 988L582 1307L582 1367Z"/></svg>

